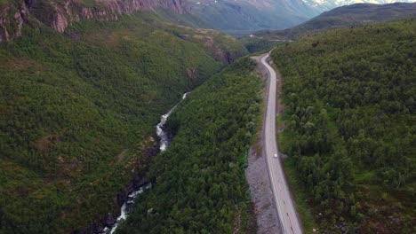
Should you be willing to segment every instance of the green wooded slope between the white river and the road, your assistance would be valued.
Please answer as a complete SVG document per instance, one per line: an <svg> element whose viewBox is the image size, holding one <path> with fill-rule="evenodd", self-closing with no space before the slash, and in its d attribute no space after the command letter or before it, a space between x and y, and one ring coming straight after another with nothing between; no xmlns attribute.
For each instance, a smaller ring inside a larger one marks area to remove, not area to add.
<svg viewBox="0 0 416 234"><path fill-rule="evenodd" d="M156 186L117 233L254 233L244 178L260 112L255 62L243 58L192 92L168 121L176 135L156 157Z"/></svg>

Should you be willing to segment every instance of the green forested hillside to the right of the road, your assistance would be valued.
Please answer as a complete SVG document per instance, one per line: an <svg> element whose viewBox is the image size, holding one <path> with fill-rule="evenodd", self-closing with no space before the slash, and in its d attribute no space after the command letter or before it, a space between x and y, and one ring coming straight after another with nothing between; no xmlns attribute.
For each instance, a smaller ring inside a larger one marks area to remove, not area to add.
<svg viewBox="0 0 416 234"><path fill-rule="evenodd" d="M416 20L404 20L273 51L284 76L285 168L319 230L416 232L415 48Z"/></svg>

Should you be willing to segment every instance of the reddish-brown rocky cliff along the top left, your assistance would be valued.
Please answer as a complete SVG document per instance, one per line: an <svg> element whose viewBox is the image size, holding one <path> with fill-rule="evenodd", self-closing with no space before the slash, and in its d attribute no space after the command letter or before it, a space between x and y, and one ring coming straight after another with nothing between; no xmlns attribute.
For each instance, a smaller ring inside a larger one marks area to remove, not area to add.
<svg viewBox="0 0 416 234"><path fill-rule="evenodd" d="M21 35L23 24L42 22L60 33L71 22L80 20L117 20L122 14L158 7L176 13L185 12L182 0L96 0L93 4L81 1L24 0L20 4L0 6L0 42Z"/></svg>

